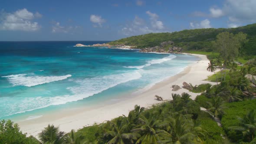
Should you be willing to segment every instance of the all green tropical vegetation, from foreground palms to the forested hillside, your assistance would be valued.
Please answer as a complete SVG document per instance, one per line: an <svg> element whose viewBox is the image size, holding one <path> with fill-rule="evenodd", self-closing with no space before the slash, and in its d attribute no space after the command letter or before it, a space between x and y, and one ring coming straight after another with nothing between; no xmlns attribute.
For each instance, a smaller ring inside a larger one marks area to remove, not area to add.
<svg viewBox="0 0 256 144"><path fill-rule="evenodd" d="M256 80L253 77L256 59L246 60L240 55L245 52L246 56L248 49L256 51L252 38L256 30L251 31L255 27L253 24L236 29L194 29L137 36L148 39L152 45L153 41L157 45L171 39L187 49L192 43L200 46L197 49L207 49L208 44L215 47L215 52L200 53L210 60L205 70L214 74L207 80L216 85L190 84L190 91L201 93L195 100L187 93L170 93L171 101L151 108L135 105L129 115L69 133L49 124L39 133L39 140L27 137L12 121L2 120L0 144L256 144ZM194 36L195 33L198 36ZM127 40L134 38L136 36ZM112 43L121 41L124 39ZM146 46L143 44L146 41L125 44L135 43ZM237 64L236 60L241 63Z"/></svg>

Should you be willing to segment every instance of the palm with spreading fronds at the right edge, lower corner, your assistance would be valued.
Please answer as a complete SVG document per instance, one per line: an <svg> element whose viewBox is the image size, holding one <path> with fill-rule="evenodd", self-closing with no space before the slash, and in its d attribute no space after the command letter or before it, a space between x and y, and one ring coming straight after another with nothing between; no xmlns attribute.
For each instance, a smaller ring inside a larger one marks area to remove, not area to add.
<svg viewBox="0 0 256 144"><path fill-rule="evenodd" d="M236 131L242 131L243 136L247 137L249 141L254 139L254 135L256 134L256 113L254 110L250 110L247 112L243 118L238 117L240 121L240 126L229 127L229 129L233 129Z"/></svg>

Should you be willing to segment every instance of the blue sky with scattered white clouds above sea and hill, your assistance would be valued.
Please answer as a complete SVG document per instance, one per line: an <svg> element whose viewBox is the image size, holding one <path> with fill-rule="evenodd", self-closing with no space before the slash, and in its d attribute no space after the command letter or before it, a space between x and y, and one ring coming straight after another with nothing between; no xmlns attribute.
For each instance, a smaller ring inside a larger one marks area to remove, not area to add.
<svg viewBox="0 0 256 144"><path fill-rule="evenodd" d="M256 0L1 0L0 41L116 40L256 23Z"/></svg>

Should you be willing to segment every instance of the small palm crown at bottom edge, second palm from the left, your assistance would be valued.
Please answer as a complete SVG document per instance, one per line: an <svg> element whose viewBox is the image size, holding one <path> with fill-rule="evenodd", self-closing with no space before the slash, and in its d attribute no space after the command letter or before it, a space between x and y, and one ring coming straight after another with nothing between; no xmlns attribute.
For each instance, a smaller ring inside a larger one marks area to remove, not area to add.
<svg viewBox="0 0 256 144"><path fill-rule="evenodd" d="M71 130L70 133L66 134L67 144L86 144L88 141L85 140L85 137L82 134L75 133L75 130Z"/></svg>

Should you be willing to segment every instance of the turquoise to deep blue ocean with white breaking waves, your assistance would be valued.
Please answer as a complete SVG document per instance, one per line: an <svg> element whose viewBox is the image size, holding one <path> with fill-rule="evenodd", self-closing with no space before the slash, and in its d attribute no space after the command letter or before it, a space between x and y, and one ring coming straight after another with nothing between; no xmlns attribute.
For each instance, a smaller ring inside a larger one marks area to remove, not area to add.
<svg viewBox="0 0 256 144"><path fill-rule="evenodd" d="M106 42L0 42L0 119L136 92L199 59L76 43Z"/></svg>

